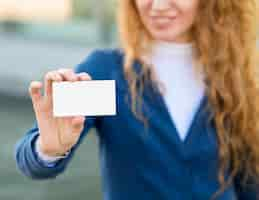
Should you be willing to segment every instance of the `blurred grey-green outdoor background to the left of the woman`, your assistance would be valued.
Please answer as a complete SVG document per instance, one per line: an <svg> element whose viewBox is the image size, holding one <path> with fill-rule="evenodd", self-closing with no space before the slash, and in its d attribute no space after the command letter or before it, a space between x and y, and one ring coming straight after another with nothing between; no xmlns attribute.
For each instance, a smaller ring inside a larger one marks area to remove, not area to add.
<svg viewBox="0 0 259 200"><path fill-rule="evenodd" d="M30 81L74 67L93 48L116 46L115 9L115 0L0 0L1 200L101 199L95 129L56 180L21 175L13 148L35 120Z"/></svg>

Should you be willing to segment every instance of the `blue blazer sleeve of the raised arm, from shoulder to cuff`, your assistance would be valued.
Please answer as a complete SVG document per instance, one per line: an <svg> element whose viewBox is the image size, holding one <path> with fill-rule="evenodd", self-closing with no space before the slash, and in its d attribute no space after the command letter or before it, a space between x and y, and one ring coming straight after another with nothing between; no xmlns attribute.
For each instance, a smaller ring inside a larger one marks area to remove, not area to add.
<svg viewBox="0 0 259 200"><path fill-rule="evenodd" d="M74 69L76 73L87 72L92 76L92 79L103 79L105 76L105 66L102 60L103 51L94 50L88 54L85 60L77 65ZM100 117L100 116L99 116ZM99 120L99 119L98 119ZM86 116L84 128L80 135L78 142L72 147L69 155L63 159L60 159L55 165L47 166L41 160L38 159L35 152L35 141L39 136L39 129L37 121L34 122L32 128L30 128L25 135L20 138L14 148L14 158L16 161L17 169L25 176L31 179L49 179L55 178L57 175L63 173L67 168L69 162L73 158L76 149L81 144L83 138L89 132L89 129L96 127L97 118L94 116Z"/></svg>

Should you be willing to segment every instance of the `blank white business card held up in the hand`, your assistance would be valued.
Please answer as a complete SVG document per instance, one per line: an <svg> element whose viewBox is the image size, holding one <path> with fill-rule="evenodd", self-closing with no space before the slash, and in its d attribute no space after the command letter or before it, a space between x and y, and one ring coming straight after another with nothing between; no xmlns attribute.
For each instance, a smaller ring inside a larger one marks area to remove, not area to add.
<svg viewBox="0 0 259 200"><path fill-rule="evenodd" d="M53 82L52 89L55 117L116 114L115 80Z"/></svg>

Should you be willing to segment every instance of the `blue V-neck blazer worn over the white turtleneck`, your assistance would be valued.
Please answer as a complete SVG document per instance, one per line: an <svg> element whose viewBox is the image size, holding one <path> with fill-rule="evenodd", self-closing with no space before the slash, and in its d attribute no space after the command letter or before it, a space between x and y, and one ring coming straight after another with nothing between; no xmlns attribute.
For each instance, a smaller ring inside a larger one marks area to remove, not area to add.
<svg viewBox="0 0 259 200"><path fill-rule="evenodd" d="M147 134L125 100L129 94L123 76L124 54L120 49L96 49L75 67L93 80L116 80L117 115L87 116L84 130L71 153L53 166L46 166L35 153L37 122L17 142L15 159L19 170L35 179L56 178L67 168L89 129L99 137L100 169L105 200L208 200L219 188L217 137L208 121L204 96L188 136L182 141L161 94L146 86L143 113L149 119ZM140 62L134 62L139 72ZM226 176L228 173L226 172ZM256 188L242 186L237 177L217 199L256 199Z"/></svg>

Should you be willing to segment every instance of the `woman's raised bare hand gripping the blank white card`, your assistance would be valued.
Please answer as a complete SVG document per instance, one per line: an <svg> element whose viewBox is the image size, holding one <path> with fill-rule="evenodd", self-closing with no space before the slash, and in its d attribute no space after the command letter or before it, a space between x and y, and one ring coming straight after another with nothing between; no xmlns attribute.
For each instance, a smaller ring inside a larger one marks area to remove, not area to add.
<svg viewBox="0 0 259 200"><path fill-rule="evenodd" d="M44 76L44 95L41 94L43 84L32 81L29 93L39 128L40 150L49 156L61 156L69 151L79 139L84 127L84 116L54 117L52 100L52 82L87 81L89 74L76 74L72 69L50 71Z"/></svg>

